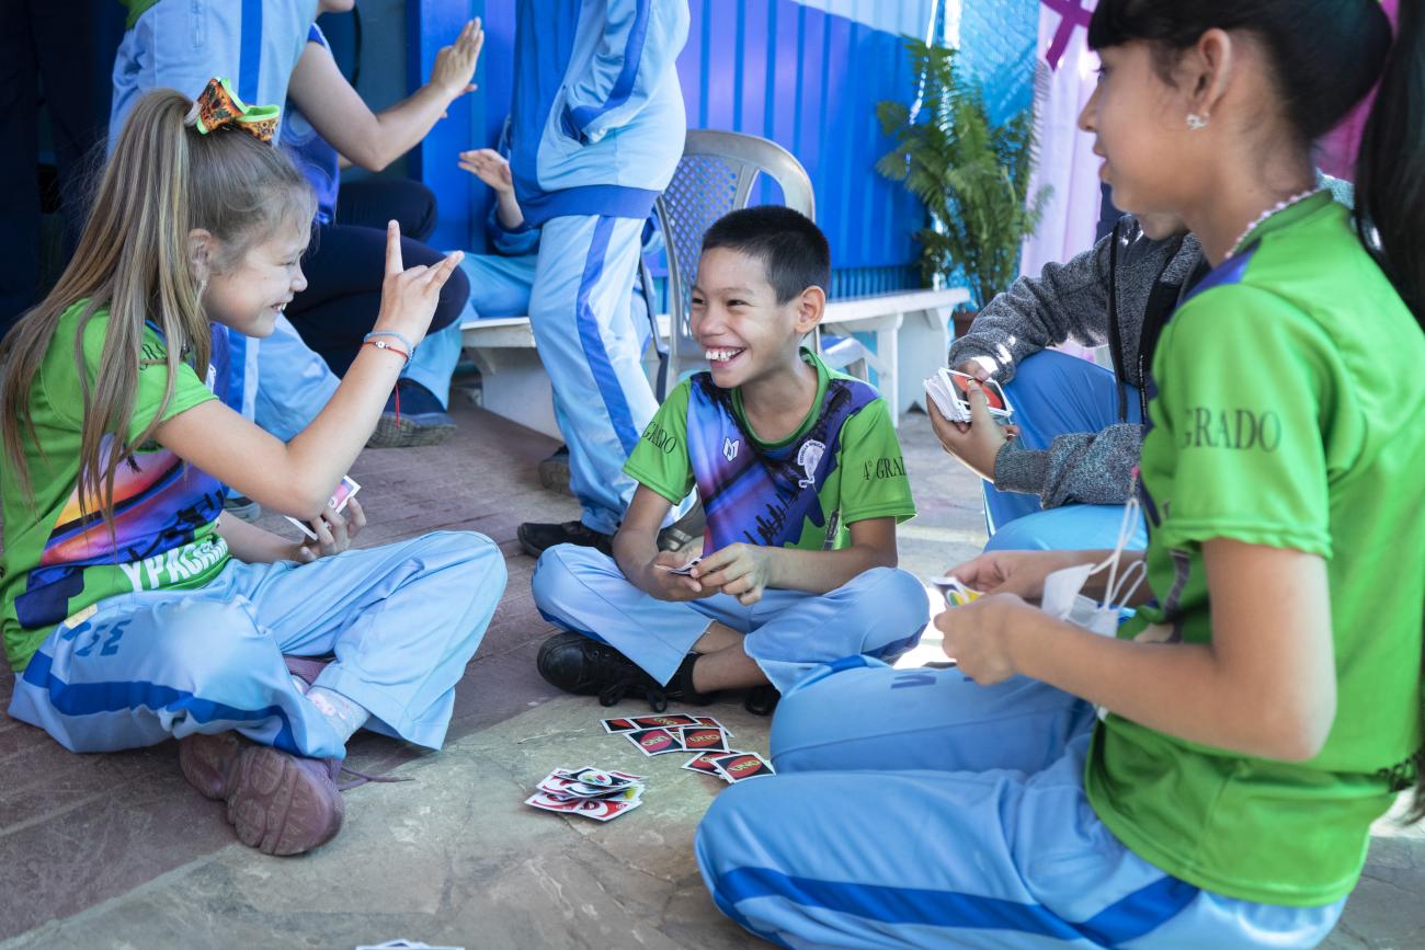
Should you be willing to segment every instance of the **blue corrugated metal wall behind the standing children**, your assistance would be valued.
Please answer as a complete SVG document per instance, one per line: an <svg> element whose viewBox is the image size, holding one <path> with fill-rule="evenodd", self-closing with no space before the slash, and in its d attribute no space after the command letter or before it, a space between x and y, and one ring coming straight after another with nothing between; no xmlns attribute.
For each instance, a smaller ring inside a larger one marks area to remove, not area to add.
<svg viewBox="0 0 1425 950"><path fill-rule="evenodd" d="M866 23L876 21L876 4L829 6L856 19L797 0L690 0L688 44L678 57L688 125L762 135L797 155L811 175L818 224L831 241L834 293L842 286L915 286L919 275L906 265L918 255L911 235L923 211L874 167L891 150L875 118L876 103L908 100L915 77L902 37ZM483 249L490 194L455 167L455 152L493 145L509 113L514 3L413 0L408 16L409 36L416 37L408 58L412 90L465 19L484 17L480 90L462 98L408 161L409 172L440 197L433 241ZM902 9L886 24L905 20ZM777 201L775 185L764 185L758 199Z"/></svg>

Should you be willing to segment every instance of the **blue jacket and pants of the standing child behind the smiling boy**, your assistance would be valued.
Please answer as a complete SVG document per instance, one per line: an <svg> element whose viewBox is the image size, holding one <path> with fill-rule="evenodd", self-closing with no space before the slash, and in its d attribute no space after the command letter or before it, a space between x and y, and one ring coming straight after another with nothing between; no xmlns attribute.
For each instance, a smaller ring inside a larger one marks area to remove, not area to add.
<svg viewBox="0 0 1425 950"><path fill-rule="evenodd" d="M633 499L623 463L657 409L630 289L683 154L687 34L687 0L519 1L510 165L526 226L542 229L530 323L570 489L604 533Z"/></svg>

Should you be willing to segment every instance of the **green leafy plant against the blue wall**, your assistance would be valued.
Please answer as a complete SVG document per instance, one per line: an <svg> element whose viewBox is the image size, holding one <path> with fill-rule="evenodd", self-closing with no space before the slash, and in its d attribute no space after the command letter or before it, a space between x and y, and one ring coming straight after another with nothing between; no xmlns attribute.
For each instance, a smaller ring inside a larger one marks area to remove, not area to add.
<svg viewBox="0 0 1425 950"><path fill-rule="evenodd" d="M980 88L956 68L955 50L911 37L906 48L923 77L921 104L913 111L905 103L876 105L881 128L895 141L876 171L925 202L931 219L915 236L926 282L959 275L983 306L1017 276L1020 246L1049 201L1049 188L1027 195L1033 111L995 125ZM956 313L956 335L970 319L973 312Z"/></svg>

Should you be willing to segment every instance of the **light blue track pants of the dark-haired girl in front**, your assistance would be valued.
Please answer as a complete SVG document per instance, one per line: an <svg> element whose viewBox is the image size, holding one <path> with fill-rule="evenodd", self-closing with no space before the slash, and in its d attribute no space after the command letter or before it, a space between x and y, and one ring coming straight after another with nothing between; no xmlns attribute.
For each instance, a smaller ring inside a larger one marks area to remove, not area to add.
<svg viewBox="0 0 1425 950"><path fill-rule="evenodd" d="M848 658L772 721L778 775L694 850L718 907L791 947L1310 947L1344 900L1223 897L1124 847L1083 790L1093 708L1022 677Z"/></svg>

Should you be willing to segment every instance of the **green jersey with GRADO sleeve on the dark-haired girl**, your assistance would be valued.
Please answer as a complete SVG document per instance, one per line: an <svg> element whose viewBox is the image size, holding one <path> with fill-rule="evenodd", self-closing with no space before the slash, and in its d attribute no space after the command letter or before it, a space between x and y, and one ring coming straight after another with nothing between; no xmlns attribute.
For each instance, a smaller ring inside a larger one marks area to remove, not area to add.
<svg viewBox="0 0 1425 950"><path fill-rule="evenodd" d="M1198 887L1320 906L1421 748L1425 338L1318 194L1273 215L1168 322L1147 380L1141 490L1154 602L1120 637L1213 638L1203 543L1327 561L1337 714L1320 755L1268 761L1117 715L1084 785L1140 857ZM1171 702L1171 696L1164 696Z"/></svg>

